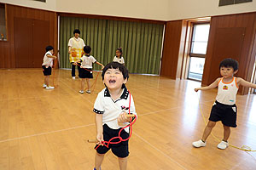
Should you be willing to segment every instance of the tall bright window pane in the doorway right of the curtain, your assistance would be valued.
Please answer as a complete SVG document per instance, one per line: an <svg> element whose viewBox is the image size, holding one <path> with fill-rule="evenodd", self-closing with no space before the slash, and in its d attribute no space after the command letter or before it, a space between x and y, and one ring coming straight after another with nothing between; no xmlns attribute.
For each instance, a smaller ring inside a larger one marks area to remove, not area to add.
<svg viewBox="0 0 256 170"><path fill-rule="evenodd" d="M207 54L210 24L194 24L189 53L189 79L201 81Z"/></svg>

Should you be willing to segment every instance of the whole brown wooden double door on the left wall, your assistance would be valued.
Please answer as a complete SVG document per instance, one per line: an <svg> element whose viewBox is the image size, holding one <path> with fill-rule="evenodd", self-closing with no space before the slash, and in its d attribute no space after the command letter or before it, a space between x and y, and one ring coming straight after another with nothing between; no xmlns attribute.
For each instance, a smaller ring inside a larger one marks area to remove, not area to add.
<svg viewBox="0 0 256 170"><path fill-rule="evenodd" d="M15 67L40 68L49 45L49 21L15 18Z"/></svg>

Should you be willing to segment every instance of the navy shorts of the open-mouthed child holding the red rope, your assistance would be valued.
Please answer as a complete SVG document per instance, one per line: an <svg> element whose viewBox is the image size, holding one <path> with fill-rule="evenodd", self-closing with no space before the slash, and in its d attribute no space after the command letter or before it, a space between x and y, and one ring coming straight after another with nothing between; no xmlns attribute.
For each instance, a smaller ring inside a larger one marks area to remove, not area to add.
<svg viewBox="0 0 256 170"><path fill-rule="evenodd" d="M113 137L119 136L119 129L112 129L108 127L107 124L103 125L103 138L105 141L109 141L109 139L112 139ZM122 130L120 134L122 139L129 138L129 133L126 133L125 129ZM113 139L112 142L117 142L119 139ZM98 145L96 145L97 147ZM95 147L95 148L96 148ZM113 154L118 157L127 157L129 156L129 150L128 150L128 140L124 142L120 142L119 144L109 144L108 148L106 146L99 146L96 151L99 154L106 154L108 150L112 150Z"/></svg>

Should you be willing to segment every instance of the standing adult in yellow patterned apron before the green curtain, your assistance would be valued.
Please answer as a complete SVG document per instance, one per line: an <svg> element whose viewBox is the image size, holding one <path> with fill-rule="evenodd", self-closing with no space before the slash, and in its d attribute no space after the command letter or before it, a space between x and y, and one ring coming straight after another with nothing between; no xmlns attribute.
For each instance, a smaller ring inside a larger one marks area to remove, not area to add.
<svg viewBox="0 0 256 170"><path fill-rule="evenodd" d="M79 36L80 36L79 29L75 29L73 31L73 37L71 37L68 41L68 54L69 54L69 61L72 65L71 75L73 80L76 79L76 65L74 65L74 62L76 62L82 57L82 54L84 53L83 48L85 46L84 40ZM80 72L79 65L78 65L78 69Z"/></svg>

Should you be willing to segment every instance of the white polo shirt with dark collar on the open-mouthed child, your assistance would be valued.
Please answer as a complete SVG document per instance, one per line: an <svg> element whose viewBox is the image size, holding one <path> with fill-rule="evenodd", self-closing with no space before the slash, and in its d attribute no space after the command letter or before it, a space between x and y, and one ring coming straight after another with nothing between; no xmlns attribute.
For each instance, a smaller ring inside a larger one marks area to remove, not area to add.
<svg viewBox="0 0 256 170"><path fill-rule="evenodd" d="M129 102L130 94L127 88L123 89L122 95L115 101L111 98L108 88L104 88L96 98L93 111L96 114L102 114L102 125L107 124L112 129L119 129L129 124L129 122L119 124L117 120L123 110L129 112ZM132 96L130 112L137 115ZM129 127L126 127L125 131L129 133Z"/></svg>

